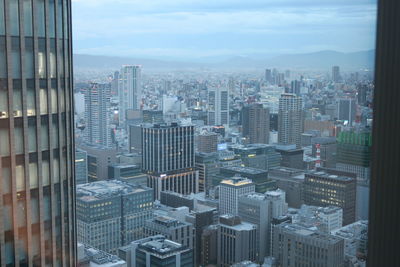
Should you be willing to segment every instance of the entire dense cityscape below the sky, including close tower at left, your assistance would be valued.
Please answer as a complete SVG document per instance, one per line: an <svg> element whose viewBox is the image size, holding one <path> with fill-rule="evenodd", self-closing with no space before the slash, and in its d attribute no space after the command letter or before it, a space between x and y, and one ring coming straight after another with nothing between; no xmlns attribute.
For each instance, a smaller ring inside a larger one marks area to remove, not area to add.
<svg viewBox="0 0 400 267"><path fill-rule="evenodd" d="M0 266L367 266L374 50L86 55L79 3L0 0Z"/></svg>

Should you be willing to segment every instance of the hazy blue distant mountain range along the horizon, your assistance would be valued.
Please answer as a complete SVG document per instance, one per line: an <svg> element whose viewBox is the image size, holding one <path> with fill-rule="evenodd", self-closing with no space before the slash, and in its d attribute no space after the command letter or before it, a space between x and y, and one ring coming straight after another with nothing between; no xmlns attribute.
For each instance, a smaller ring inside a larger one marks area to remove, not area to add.
<svg viewBox="0 0 400 267"><path fill-rule="evenodd" d="M130 58L114 56L74 55L74 67L79 70L117 70L121 65L138 64L146 69L263 69L289 68L302 70L330 70L338 65L342 70L373 69L375 50L342 53L337 51L319 51L307 54L287 54L279 56L236 56L207 61L192 61Z"/></svg>

